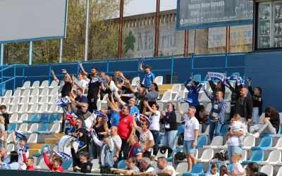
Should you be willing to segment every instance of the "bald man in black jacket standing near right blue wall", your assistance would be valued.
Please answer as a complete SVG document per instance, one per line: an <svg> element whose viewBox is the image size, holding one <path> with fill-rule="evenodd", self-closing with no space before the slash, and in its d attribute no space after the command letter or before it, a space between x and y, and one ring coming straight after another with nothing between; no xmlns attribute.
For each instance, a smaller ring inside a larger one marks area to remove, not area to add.
<svg viewBox="0 0 282 176"><path fill-rule="evenodd" d="M238 113L243 123L244 131L247 132L247 123L252 122L252 99L247 96L249 91L244 87L240 91L240 96L235 103L235 113Z"/></svg>

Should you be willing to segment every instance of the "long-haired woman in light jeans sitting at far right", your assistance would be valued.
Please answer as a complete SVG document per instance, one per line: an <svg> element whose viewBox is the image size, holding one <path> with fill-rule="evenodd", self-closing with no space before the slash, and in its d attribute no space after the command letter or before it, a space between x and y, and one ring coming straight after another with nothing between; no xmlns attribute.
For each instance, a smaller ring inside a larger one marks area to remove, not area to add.
<svg viewBox="0 0 282 176"><path fill-rule="evenodd" d="M280 125L280 117L278 111L271 106L265 108L265 118L263 124L250 127L250 133L247 136L259 138L259 134L277 134Z"/></svg>

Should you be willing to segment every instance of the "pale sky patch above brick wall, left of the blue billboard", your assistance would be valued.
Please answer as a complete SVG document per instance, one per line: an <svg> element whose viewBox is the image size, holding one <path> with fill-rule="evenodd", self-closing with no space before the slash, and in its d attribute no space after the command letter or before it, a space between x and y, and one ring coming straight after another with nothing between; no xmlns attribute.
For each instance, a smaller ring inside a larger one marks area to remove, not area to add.
<svg viewBox="0 0 282 176"><path fill-rule="evenodd" d="M130 0L125 6L124 16L152 13L156 11L156 0ZM176 0L161 0L160 11L176 9Z"/></svg>

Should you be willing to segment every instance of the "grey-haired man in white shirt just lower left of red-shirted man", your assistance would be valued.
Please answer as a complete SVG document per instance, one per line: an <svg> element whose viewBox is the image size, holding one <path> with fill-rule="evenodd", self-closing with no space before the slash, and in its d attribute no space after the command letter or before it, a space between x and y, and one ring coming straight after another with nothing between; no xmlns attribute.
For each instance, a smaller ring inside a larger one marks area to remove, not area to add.
<svg viewBox="0 0 282 176"><path fill-rule="evenodd" d="M111 138L114 142L114 168L118 168L118 155L121 152L121 137L118 136L118 127L111 127Z"/></svg>

